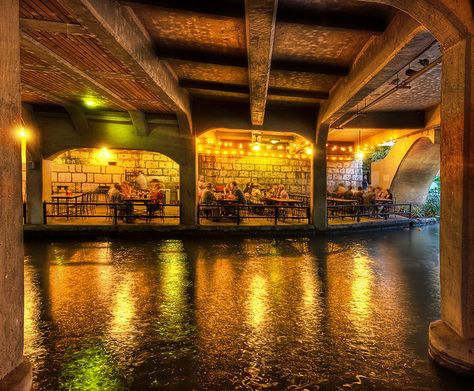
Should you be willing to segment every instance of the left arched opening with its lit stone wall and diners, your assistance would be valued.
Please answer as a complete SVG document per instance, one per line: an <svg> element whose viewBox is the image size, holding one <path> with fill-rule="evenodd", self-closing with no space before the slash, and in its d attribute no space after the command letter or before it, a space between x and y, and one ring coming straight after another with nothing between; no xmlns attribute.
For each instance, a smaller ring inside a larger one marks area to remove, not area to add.
<svg viewBox="0 0 474 391"><path fill-rule="evenodd" d="M79 148L44 166L48 224L179 224L180 166L161 153Z"/></svg>

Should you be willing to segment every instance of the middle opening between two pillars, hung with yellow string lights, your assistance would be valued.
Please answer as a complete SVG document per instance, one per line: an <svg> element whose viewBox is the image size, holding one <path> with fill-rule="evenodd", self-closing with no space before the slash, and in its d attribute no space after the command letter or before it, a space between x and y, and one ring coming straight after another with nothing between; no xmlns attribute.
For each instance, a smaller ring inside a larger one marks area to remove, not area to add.
<svg viewBox="0 0 474 391"><path fill-rule="evenodd" d="M277 217L263 218L275 212L264 206L278 204L277 199L285 207L295 206L291 213L283 210L285 218L291 215L288 222L308 223L303 208L309 208L311 202L313 146L306 138L291 132L213 129L197 139L197 151L200 203L204 202L201 196L206 186L213 186L219 203L228 195L229 184L236 182L245 203L253 205L245 210L245 224L278 223Z"/></svg>

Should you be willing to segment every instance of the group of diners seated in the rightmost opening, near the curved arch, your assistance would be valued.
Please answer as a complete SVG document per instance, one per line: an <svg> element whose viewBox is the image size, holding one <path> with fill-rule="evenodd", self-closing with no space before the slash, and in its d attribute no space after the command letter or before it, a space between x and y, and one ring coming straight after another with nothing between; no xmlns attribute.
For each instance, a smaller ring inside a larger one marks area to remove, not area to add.
<svg viewBox="0 0 474 391"><path fill-rule="evenodd" d="M377 202L392 202L393 195L388 189L381 187L368 186L366 190L362 186L357 189L352 186L345 187L343 183L339 183L333 192L327 193L328 199L332 201L337 200L353 200L360 205L373 205Z"/></svg>

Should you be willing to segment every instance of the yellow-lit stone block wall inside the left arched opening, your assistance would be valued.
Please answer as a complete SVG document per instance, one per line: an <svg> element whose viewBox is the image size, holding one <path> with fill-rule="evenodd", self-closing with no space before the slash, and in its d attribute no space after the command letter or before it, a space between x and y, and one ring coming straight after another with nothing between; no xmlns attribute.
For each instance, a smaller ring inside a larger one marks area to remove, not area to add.
<svg viewBox="0 0 474 391"><path fill-rule="evenodd" d="M162 181L168 189L175 190L179 185L179 165L165 155L118 149L76 149L61 154L53 160L51 184L53 189L67 185L69 190L81 193L99 185L120 183L126 173L137 171L143 171L148 180Z"/></svg>

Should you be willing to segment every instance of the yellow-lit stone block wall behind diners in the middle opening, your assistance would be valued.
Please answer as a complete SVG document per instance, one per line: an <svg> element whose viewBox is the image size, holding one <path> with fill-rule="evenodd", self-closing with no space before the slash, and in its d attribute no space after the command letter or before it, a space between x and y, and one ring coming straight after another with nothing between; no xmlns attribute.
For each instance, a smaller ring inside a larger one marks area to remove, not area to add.
<svg viewBox="0 0 474 391"><path fill-rule="evenodd" d="M261 188L273 183L285 185L290 193L310 194L311 160L254 156L199 155L199 175L215 185L236 181L260 184Z"/></svg>

